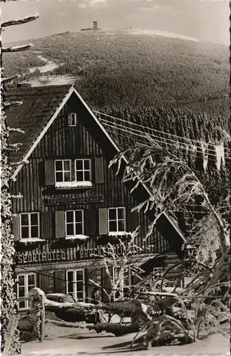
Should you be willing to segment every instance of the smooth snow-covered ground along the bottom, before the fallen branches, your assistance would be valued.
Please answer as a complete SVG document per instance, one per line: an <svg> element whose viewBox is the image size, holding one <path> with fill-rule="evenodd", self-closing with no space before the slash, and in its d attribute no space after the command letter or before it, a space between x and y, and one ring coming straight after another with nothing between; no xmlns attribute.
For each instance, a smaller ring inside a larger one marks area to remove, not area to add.
<svg viewBox="0 0 231 356"><path fill-rule="evenodd" d="M118 355L227 355L230 351L230 340L220 335L208 335L201 340L182 346L150 347L140 350L137 345L130 348L130 341L135 334L115 337L111 334L80 330L75 328L61 328L55 325L46 325L46 338L44 342L31 341L22 345L23 355L78 355L108 354Z"/></svg>

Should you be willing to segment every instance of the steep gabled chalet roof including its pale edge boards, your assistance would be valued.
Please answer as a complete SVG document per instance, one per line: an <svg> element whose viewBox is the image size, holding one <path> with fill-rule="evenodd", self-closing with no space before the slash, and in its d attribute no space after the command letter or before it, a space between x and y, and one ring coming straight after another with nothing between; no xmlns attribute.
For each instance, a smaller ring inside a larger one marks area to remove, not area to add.
<svg viewBox="0 0 231 356"><path fill-rule="evenodd" d="M36 145L45 135L48 127L50 127L53 121L56 119L58 113L68 101L68 98L75 93L78 100L81 101L83 106L88 110L88 114L91 115L101 131L106 135L107 140L111 143L116 152L120 152L120 148L116 144L115 140L108 134L108 131L103 126L101 121L96 117L94 112L83 100L73 85L53 85L39 88L17 88L14 90L7 90L7 101L22 101L22 105L16 108L7 110L6 117L9 127L18 127L23 130L25 134L19 132L11 132L9 142L11 144L21 142L22 145L19 150L12 155L13 162L26 161L34 151ZM125 163L127 159L124 157ZM22 164L20 164L13 172L12 179L19 173ZM150 193L150 189L145 184L142 184L145 191ZM179 229L175 219L169 216L167 213L162 214L167 219L168 224L173 226L173 229L178 235L185 241L183 232ZM163 219L163 217L160 219ZM166 224L167 227L167 224Z"/></svg>

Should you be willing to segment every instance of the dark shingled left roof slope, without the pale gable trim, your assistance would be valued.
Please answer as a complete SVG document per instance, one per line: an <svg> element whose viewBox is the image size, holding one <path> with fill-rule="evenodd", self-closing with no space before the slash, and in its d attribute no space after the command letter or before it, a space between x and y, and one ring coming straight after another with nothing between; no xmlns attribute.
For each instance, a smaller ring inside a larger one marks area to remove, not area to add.
<svg viewBox="0 0 231 356"><path fill-rule="evenodd" d="M61 103L68 96L70 85L53 85L48 87L14 88L6 91L7 102L19 101L21 105L6 109L9 127L19 128L25 133L11 131L9 143L21 143L17 152L12 151L11 161L19 162L37 140L43 127Z"/></svg>

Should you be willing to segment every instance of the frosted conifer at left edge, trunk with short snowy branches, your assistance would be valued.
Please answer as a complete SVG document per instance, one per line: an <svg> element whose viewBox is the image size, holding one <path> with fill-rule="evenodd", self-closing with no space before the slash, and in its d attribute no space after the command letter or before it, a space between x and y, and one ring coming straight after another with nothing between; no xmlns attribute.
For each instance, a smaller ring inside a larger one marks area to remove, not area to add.
<svg viewBox="0 0 231 356"><path fill-rule="evenodd" d="M1 2L7 2L1 0ZM7 6L7 4L5 5ZM24 19L6 21L1 23L0 35L3 28L8 26L28 23L37 19L39 15L26 16ZM1 352L6 355L15 355L21 352L19 342L18 315L15 271L14 271L14 235L11 226L11 162L9 152L17 150L18 145L9 144L10 130L20 130L18 127L11 127L6 124L6 109L21 105L20 102L6 103L6 85L18 78L4 78L3 75L3 54L9 52L26 51L31 48L31 44L21 46L4 47L1 46ZM14 197L13 199L20 199Z"/></svg>

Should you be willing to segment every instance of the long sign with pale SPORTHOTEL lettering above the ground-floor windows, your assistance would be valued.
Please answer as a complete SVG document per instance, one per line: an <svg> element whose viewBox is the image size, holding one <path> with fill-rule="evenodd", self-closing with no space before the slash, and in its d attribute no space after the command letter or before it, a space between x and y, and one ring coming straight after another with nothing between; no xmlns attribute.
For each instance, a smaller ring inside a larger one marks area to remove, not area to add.
<svg viewBox="0 0 231 356"><path fill-rule="evenodd" d="M123 248L120 246L115 246L116 253L121 255L123 253ZM100 253L101 255L107 255L107 248L68 248L68 250L73 250L71 253L75 258L70 258L70 251L51 250L51 251L24 251L16 252L16 264L37 264L37 263L54 263L54 262L65 262L65 261L81 261L90 258L96 258ZM134 250L135 252L135 250ZM138 252L138 251L137 251Z"/></svg>

